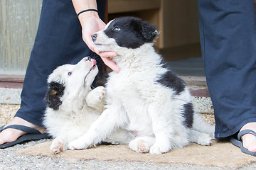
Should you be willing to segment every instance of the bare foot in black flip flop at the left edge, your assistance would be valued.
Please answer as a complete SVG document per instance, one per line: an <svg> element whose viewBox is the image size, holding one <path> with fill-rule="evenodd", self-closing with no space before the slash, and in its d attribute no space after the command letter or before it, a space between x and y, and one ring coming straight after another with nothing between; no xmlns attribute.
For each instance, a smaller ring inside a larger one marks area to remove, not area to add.
<svg viewBox="0 0 256 170"><path fill-rule="evenodd" d="M29 123L26 120L23 120L22 118L18 118L18 117L14 117L10 123L8 123L8 125L26 125L30 128L34 128L36 130L39 130L41 133L45 133L46 129L38 126L38 125L34 125L32 123ZM6 125L6 126L8 126ZM26 132L23 132L21 130L16 130L16 129L12 129L12 128L8 128L6 130L3 130L0 133L0 145L4 144L4 143L8 143L8 142L14 142L15 140L18 139L18 137L20 137L21 135L26 134Z"/></svg>

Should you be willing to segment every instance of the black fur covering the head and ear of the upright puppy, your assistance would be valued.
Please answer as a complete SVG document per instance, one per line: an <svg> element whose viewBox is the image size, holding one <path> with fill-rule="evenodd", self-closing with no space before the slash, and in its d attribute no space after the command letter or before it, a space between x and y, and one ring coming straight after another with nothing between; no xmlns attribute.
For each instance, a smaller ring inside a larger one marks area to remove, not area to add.
<svg viewBox="0 0 256 170"><path fill-rule="evenodd" d="M155 26L134 17L116 18L104 32L108 38L114 38L120 47L132 49L145 42L154 42L158 35Z"/></svg>

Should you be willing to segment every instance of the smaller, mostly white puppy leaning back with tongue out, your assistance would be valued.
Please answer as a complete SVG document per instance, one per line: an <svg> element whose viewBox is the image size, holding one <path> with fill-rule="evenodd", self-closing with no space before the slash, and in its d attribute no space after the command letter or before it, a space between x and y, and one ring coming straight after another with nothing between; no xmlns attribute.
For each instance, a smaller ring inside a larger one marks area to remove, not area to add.
<svg viewBox="0 0 256 170"><path fill-rule="evenodd" d="M104 111L105 88L91 89L98 73L96 61L85 57L78 64L58 67L48 77L44 125L53 140L54 154L67 149L68 143L85 134ZM123 130L124 131L124 130ZM105 142L125 144L129 139L122 130L105 137ZM124 140L123 140L124 139Z"/></svg>

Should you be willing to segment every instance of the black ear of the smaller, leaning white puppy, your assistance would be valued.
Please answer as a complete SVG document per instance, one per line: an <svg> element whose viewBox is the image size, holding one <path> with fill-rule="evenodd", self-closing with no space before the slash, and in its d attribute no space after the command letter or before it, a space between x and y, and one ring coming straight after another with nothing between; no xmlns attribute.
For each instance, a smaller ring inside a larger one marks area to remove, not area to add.
<svg viewBox="0 0 256 170"><path fill-rule="evenodd" d="M46 106L53 108L53 110L58 110L62 101L60 100L61 96L64 94L65 86L57 82L50 82L48 84L48 91L46 93Z"/></svg>

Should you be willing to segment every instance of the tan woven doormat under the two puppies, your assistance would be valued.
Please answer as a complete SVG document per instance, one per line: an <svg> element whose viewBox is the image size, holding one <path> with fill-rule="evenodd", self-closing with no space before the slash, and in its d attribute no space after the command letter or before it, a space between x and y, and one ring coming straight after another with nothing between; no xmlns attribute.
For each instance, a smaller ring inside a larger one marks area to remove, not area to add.
<svg viewBox="0 0 256 170"><path fill-rule="evenodd" d="M191 143L182 149L172 149L166 154L152 155L139 154L128 148L127 145L101 145L84 150L67 150L59 154L51 154L50 143L45 142L33 147L21 149L18 154L42 155L67 159L73 161L96 160L122 161L122 162L154 162L160 164L191 164L197 166L219 166L226 168L238 168L252 162L256 158L243 154L240 148L233 146L230 142L213 141L210 146L200 146Z"/></svg>

